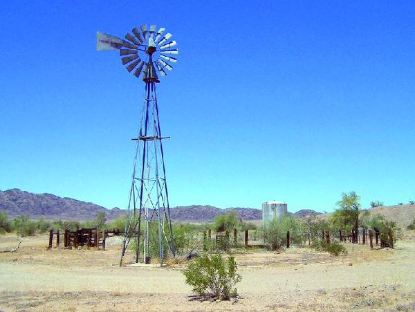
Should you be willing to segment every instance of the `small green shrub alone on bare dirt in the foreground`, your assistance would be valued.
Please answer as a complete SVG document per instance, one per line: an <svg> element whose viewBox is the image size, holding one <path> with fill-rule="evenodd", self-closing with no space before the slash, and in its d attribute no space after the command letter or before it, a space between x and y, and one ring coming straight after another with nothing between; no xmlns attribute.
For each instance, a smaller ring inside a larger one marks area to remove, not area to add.
<svg viewBox="0 0 415 312"><path fill-rule="evenodd" d="M194 258L183 270L186 284L198 295L212 296L223 300L237 295L235 287L241 281L234 257L227 260L220 254Z"/></svg>

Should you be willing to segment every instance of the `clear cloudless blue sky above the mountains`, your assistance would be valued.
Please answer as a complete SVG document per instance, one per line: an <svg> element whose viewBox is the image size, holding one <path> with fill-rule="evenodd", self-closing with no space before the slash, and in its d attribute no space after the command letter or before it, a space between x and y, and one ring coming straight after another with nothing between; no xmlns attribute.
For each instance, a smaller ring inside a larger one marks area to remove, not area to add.
<svg viewBox="0 0 415 312"><path fill-rule="evenodd" d="M125 207L144 84L95 32L154 23L180 50L158 85L172 206L415 200L414 17L414 1L4 1L0 189Z"/></svg>

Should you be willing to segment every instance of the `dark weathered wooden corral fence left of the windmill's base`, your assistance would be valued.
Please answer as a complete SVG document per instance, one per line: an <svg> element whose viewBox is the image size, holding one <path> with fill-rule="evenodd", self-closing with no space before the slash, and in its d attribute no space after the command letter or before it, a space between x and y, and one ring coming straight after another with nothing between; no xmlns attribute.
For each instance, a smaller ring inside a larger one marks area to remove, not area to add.
<svg viewBox="0 0 415 312"><path fill-rule="evenodd" d="M98 228L80 228L79 230L70 231L68 229L61 232L60 230L49 231L49 246L53 247L53 237L56 236L56 247L61 243L61 235L64 236L64 248L102 248L105 250L105 242L107 237L123 235L124 233L118 229L111 231L99 230Z"/></svg>

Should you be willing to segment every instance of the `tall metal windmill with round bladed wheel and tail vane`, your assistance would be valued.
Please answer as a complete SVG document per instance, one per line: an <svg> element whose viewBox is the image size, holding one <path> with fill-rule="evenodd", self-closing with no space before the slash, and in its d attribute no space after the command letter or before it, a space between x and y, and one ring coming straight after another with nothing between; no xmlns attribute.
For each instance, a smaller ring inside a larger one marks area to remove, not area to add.
<svg viewBox="0 0 415 312"><path fill-rule="evenodd" d="M177 62L173 56L178 54L174 48L177 44L171 38L172 34L165 33L165 28L156 31L156 25L147 27L145 24L133 28L124 39L97 32L97 50L119 50L127 71L142 77L145 82L140 128L137 138L132 139L136 141L136 154L120 266L131 240L135 244L136 263L140 259L141 248L145 264L149 264L155 248L160 266L163 266L167 248L176 255L162 144L169 137L161 134L156 97L156 83L160 82L158 75L167 75L166 71L173 69L172 63Z"/></svg>

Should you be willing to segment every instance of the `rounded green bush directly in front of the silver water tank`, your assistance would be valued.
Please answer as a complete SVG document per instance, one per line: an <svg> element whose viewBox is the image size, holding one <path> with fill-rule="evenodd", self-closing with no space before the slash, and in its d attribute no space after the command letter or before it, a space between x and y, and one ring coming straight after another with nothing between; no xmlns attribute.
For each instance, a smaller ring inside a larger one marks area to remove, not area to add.
<svg viewBox="0 0 415 312"><path fill-rule="evenodd" d="M289 231L291 244L302 244L306 230L306 223L302 219L286 214L266 225L264 228L265 243L269 249L277 250L286 245L286 235Z"/></svg>

